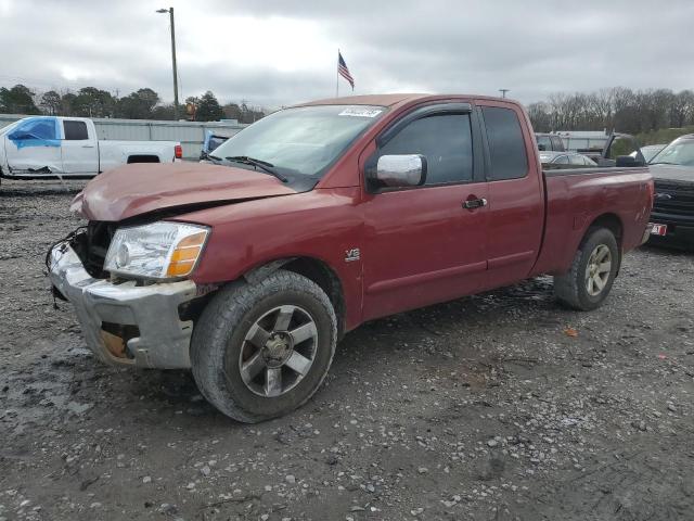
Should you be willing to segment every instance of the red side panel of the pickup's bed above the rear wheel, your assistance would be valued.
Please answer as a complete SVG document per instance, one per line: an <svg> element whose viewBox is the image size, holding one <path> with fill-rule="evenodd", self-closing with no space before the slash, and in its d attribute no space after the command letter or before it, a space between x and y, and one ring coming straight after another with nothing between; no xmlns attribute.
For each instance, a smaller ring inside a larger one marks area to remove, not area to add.
<svg viewBox="0 0 694 521"><path fill-rule="evenodd" d="M542 170L544 233L532 275L569 269L581 239L596 219L615 226L622 251L642 243L651 214L652 177L646 167ZM611 208L604 214L604 208Z"/></svg>

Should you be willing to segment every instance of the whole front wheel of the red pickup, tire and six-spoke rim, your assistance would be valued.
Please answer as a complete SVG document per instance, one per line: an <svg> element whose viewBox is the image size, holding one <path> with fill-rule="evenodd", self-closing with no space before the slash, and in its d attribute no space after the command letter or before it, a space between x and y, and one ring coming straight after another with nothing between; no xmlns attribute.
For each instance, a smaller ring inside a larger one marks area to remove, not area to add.
<svg viewBox="0 0 694 521"><path fill-rule="evenodd" d="M336 342L325 292L278 270L255 284L230 284L209 302L193 330L193 377L220 411L254 423L307 402L327 374Z"/></svg>

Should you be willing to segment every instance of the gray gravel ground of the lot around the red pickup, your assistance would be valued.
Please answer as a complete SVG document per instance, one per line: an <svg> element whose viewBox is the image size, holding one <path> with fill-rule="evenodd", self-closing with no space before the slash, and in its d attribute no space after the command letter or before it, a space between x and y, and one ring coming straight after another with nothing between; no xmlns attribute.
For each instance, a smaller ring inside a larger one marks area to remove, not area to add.
<svg viewBox="0 0 694 521"><path fill-rule="evenodd" d="M304 408L244 425L53 308L80 186L0 188L0 521L693 519L693 255L631 253L593 313L539 278L368 323Z"/></svg>

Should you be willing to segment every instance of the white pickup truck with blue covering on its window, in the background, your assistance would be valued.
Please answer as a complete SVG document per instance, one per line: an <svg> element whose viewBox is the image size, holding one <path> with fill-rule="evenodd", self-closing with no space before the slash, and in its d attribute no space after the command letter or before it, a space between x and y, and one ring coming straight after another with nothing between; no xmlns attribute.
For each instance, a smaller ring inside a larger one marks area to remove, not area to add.
<svg viewBox="0 0 694 521"><path fill-rule="evenodd" d="M176 141L99 140L91 119L31 116L0 129L0 177L87 178L126 163L171 163Z"/></svg>

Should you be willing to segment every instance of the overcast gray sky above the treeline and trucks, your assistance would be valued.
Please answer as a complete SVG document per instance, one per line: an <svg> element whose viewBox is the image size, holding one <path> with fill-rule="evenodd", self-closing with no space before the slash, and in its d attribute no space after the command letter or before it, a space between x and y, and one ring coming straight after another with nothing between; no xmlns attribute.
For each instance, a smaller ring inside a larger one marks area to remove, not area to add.
<svg viewBox="0 0 694 521"><path fill-rule="evenodd" d="M694 88L692 0L0 0L0 85L170 101L169 5L181 99L332 97L337 48L359 94Z"/></svg>

